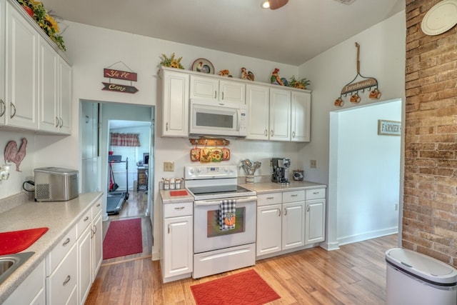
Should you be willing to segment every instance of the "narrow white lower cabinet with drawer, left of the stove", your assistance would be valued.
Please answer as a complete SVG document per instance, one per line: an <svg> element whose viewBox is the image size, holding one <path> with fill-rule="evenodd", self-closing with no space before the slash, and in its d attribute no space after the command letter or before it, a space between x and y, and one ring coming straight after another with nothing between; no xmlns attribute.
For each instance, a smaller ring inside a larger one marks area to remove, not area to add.
<svg viewBox="0 0 457 305"><path fill-rule="evenodd" d="M193 202L164 204L161 253L164 283L190 277L194 270Z"/></svg>

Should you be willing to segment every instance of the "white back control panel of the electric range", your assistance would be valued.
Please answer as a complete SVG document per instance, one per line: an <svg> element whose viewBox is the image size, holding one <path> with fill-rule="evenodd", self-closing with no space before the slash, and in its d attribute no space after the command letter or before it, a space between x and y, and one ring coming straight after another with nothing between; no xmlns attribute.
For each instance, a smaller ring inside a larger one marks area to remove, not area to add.
<svg viewBox="0 0 457 305"><path fill-rule="evenodd" d="M184 179L224 179L237 178L236 165L195 165L184 167Z"/></svg>

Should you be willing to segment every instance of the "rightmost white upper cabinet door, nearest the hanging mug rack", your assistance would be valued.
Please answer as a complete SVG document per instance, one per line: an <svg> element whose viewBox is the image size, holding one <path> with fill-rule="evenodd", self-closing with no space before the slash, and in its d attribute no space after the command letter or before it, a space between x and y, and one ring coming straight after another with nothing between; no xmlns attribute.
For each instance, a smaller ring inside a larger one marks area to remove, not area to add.
<svg viewBox="0 0 457 305"><path fill-rule="evenodd" d="M309 142L311 125L311 94L292 91L291 141Z"/></svg>

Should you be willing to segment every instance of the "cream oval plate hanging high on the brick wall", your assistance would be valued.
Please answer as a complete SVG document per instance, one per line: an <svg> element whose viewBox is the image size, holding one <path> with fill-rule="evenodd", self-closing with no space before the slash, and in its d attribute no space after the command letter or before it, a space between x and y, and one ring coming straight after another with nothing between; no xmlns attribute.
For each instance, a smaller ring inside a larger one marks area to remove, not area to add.
<svg viewBox="0 0 457 305"><path fill-rule="evenodd" d="M457 0L438 2L423 16L421 29L426 35L443 34L457 24Z"/></svg>

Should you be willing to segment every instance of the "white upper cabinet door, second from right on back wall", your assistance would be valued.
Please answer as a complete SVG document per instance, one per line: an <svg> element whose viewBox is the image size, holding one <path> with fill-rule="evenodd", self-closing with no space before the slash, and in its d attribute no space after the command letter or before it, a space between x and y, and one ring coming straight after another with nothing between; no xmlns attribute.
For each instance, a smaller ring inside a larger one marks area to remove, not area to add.
<svg viewBox="0 0 457 305"><path fill-rule="evenodd" d="M291 139L291 91L270 89L270 139Z"/></svg>

